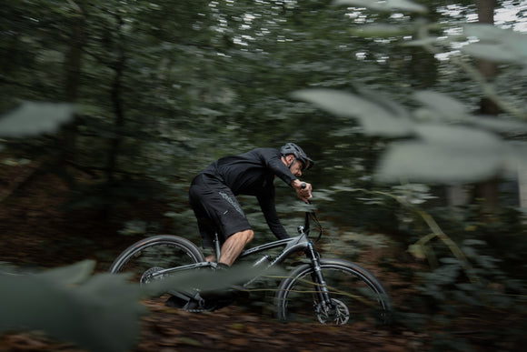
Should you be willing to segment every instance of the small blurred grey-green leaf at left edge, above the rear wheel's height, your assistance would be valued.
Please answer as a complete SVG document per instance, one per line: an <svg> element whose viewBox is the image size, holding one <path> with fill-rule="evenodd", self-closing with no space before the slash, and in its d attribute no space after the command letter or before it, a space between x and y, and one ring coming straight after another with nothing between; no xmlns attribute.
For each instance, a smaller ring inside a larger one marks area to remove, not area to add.
<svg viewBox="0 0 527 352"><path fill-rule="evenodd" d="M26 102L0 118L0 136L23 137L54 133L71 120L75 106L65 103Z"/></svg>

